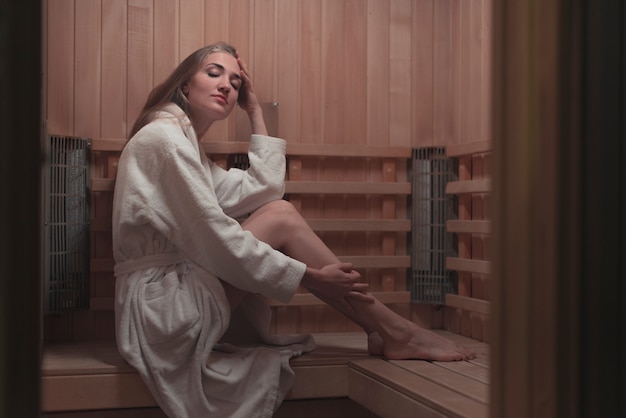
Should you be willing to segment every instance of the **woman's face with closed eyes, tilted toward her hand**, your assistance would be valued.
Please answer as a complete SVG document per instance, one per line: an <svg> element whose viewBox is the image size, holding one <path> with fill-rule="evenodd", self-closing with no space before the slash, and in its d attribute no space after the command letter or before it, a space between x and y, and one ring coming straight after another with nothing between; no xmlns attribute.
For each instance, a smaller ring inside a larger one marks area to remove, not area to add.
<svg viewBox="0 0 626 418"><path fill-rule="evenodd" d="M211 123L226 118L237 104L242 85L237 59L225 52L206 57L200 70L183 86L192 119Z"/></svg>

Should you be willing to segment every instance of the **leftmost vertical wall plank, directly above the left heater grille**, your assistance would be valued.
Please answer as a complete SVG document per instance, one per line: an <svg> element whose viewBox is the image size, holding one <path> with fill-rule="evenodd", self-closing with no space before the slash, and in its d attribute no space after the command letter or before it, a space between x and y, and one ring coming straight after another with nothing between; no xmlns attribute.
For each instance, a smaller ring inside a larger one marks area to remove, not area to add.
<svg viewBox="0 0 626 418"><path fill-rule="evenodd" d="M48 1L48 62L46 86L47 131L74 134L74 1Z"/></svg>

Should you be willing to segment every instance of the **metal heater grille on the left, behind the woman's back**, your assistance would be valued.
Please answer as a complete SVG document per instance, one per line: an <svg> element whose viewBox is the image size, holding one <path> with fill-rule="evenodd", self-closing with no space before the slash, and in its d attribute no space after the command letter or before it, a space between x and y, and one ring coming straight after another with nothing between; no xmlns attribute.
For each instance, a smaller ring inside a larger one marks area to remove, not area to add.
<svg viewBox="0 0 626 418"><path fill-rule="evenodd" d="M44 313L89 305L87 138L48 136L44 168Z"/></svg>

